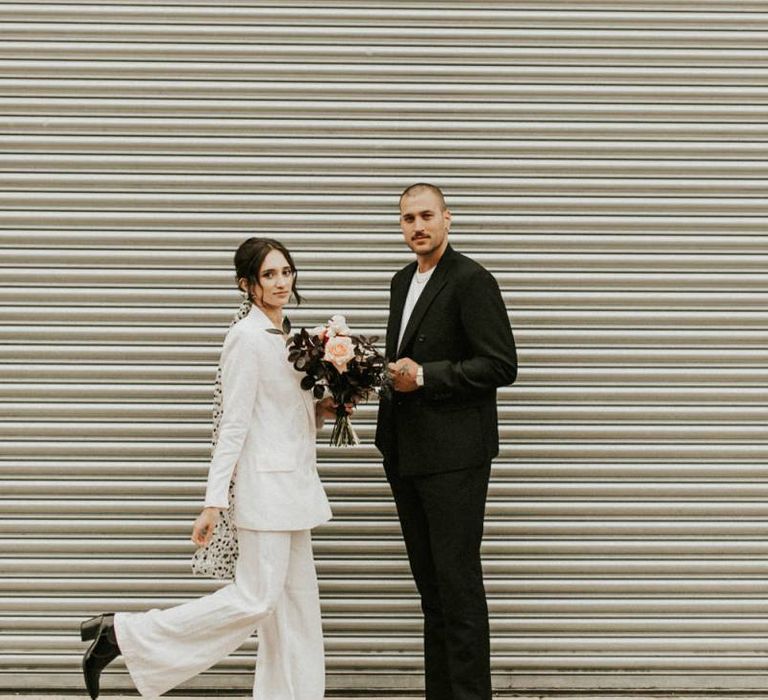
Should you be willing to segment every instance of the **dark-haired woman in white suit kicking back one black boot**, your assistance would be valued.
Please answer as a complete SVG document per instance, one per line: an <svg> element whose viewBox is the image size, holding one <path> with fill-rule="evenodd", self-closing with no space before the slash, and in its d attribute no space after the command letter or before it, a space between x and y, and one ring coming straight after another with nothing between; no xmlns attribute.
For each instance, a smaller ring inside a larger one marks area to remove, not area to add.
<svg viewBox="0 0 768 700"><path fill-rule="evenodd" d="M285 246L248 239L235 254L235 275L247 299L221 352L222 410L214 416L204 508L192 529L201 547L198 569L219 576L229 569L234 580L174 608L83 622L83 641L93 640L83 673L94 700L102 670L120 654L139 693L156 697L235 651L255 630L254 697L324 695L311 529L331 517L315 433L335 416L335 405L302 391L302 375L287 361L283 306L301 297Z"/></svg>

